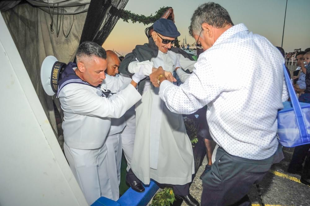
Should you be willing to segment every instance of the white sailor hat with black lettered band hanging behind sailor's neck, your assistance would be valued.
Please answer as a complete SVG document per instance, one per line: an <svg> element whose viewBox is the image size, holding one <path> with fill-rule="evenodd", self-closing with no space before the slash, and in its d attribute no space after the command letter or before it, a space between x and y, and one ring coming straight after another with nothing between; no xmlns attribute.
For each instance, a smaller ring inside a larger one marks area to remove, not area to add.
<svg viewBox="0 0 310 206"><path fill-rule="evenodd" d="M41 66L41 83L47 95L53 96L58 90L58 81L62 68L66 64L59 62L55 56L47 56Z"/></svg>

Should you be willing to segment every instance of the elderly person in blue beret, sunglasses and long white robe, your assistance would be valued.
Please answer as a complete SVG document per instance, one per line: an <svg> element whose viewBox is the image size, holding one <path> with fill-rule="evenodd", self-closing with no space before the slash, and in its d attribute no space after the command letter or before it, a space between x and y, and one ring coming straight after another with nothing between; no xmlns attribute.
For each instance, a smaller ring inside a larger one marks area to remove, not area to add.
<svg viewBox="0 0 310 206"><path fill-rule="evenodd" d="M149 76L162 67L166 71L166 77L162 78L171 80L171 73L176 70L184 81L188 74L183 70L191 72L196 61L172 46L180 36L175 24L171 20L159 19L153 29L148 43L136 46L125 56L119 72L132 75L142 67L143 74ZM184 199L188 205L197 206L199 203L189 194L188 183L192 182L194 160L183 117L168 110L158 91L149 77L139 85L142 99L136 106L135 145L126 181L135 191L143 192L141 182L149 184L153 179L160 186L173 187L176 197Z"/></svg>

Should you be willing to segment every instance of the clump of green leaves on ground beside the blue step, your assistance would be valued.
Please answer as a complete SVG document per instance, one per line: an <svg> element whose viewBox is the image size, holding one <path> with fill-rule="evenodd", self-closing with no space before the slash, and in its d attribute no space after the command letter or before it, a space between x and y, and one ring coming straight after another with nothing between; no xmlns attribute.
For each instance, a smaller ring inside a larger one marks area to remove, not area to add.
<svg viewBox="0 0 310 206"><path fill-rule="evenodd" d="M170 206L175 201L173 189L165 187L162 191L157 192L149 206Z"/></svg>

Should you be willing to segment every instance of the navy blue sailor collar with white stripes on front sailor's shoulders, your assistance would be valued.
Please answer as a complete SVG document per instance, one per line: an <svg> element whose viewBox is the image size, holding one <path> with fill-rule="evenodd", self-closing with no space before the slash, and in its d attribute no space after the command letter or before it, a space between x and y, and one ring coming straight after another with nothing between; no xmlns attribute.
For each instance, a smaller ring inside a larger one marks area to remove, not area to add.
<svg viewBox="0 0 310 206"><path fill-rule="evenodd" d="M95 88L99 88L98 86L93 86L87 83L86 81L83 81L80 77L78 77L74 71L75 68L77 67L77 64L73 62L69 62L67 66L64 68L62 73L60 74L60 80L58 81L58 91L57 91L57 97L59 95L59 92L62 88L64 88L65 85L70 84L70 83L76 83L76 84L84 84L88 86L92 86Z"/></svg>

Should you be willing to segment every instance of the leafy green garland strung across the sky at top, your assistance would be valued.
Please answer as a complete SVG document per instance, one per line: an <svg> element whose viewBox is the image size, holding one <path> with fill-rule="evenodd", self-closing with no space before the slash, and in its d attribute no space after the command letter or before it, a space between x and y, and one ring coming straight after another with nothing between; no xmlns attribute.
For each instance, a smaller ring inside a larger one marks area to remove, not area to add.
<svg viewBox="0 0 310 206"><path fill-rule="evenodd" d="M131 20L133 23L139 22L147 25L153 24L156 20L158 20L168 8L169 7L160 8L158 11L155 12L155 16L153 16L153 14L151 14L150 16L139 15L131 13L131 11L128 10L119 10L119 13L117 15L126 22L128 22L128 20Z"/></svg>

